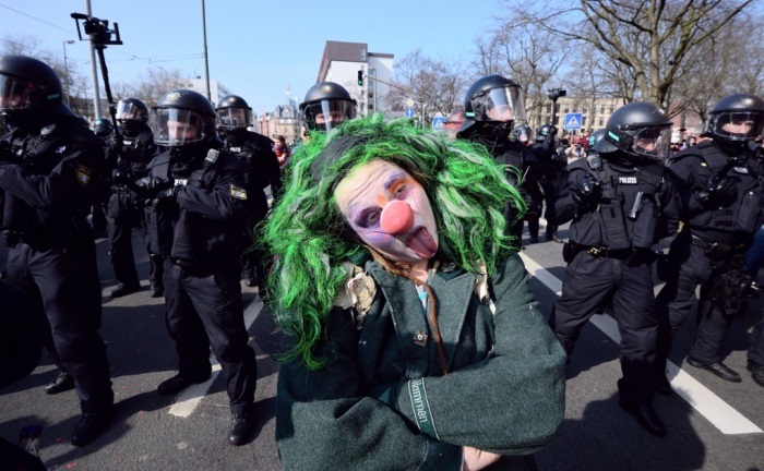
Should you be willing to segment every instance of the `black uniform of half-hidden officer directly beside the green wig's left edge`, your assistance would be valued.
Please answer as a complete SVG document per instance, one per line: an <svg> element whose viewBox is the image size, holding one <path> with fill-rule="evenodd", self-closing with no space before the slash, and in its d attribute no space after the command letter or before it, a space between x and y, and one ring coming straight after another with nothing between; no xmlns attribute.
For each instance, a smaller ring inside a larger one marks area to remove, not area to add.
<svg viewBox="0 0 764 471"><path fill-rule="evenodd" d="M254 237L254 227L265 218L268 210L265 188L271 185L274 197L282 189L278 157L273 150L271 138L247 130L227 131L224 148L239 157L247 166L244 220L247 222L248 247L242 255L242 268L247 279L258 280L261 295L264 295L265 254L258 241L252 238Z"/></svg>

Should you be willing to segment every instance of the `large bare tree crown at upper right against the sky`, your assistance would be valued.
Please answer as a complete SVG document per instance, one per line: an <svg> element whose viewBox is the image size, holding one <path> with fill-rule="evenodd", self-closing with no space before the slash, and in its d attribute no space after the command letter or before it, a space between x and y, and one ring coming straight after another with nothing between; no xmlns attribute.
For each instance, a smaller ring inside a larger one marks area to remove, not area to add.
<svg viewBox="0 0 764 471"><path fill-rule="evenodd" d="M525 21L599 50L623 67L612 71L614 83L628 85L632 76L640 99L667 107L685 57L753 1L578 0L569 8L547 4Z"/></svg>

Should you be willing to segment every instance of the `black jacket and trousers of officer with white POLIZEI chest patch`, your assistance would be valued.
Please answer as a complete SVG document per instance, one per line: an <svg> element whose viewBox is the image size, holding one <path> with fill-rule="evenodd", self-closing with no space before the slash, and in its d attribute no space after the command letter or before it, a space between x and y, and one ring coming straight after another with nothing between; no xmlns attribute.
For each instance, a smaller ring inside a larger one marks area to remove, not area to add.
<svg viewBox="0 0 764 471"><path fill-rule="evenodd" d="M649 404L658 334L650 246L677 230L679 201L661 164L634 166L619 158L620 150L607 155L566 168L556 216L558 224L572 219L563 246L568 267L550 325L570 357L584 324L612 297L621 333L621 400ZM575 194L584 176L601 182L594 190L601 197L578 204Z"/></svg>

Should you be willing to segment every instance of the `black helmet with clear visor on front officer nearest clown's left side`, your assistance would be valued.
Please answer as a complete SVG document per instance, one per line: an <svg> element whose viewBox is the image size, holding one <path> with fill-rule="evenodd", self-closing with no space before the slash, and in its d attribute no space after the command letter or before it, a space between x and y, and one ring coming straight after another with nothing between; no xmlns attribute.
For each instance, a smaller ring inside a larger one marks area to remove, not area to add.
<svg viewBox="0 0 764 471"><path fill-rule="evenodd" d="M215 108L202 94L189 89L166 93L152 108L154 142L184 146L210 141L215 132Z"/></svg>

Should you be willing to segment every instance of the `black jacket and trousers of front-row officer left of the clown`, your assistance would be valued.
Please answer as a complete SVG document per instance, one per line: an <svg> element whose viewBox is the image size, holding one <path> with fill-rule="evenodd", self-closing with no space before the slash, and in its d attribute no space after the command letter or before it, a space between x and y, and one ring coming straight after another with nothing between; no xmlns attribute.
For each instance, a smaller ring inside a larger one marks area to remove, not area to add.
<svg viewBox="0 0 764 471"><path fill-rule="evenodd" d="M148 227L152 251L165 258L166 321L179 375L196 383L208 377L212 346L231 413L241 415L250 412L256 382L239 282L247 169L211 147L174 147L152 160L151 176L174 179L176 189L174 197L153 202ZM193 156L181 159L179 152Z"/></svg>

